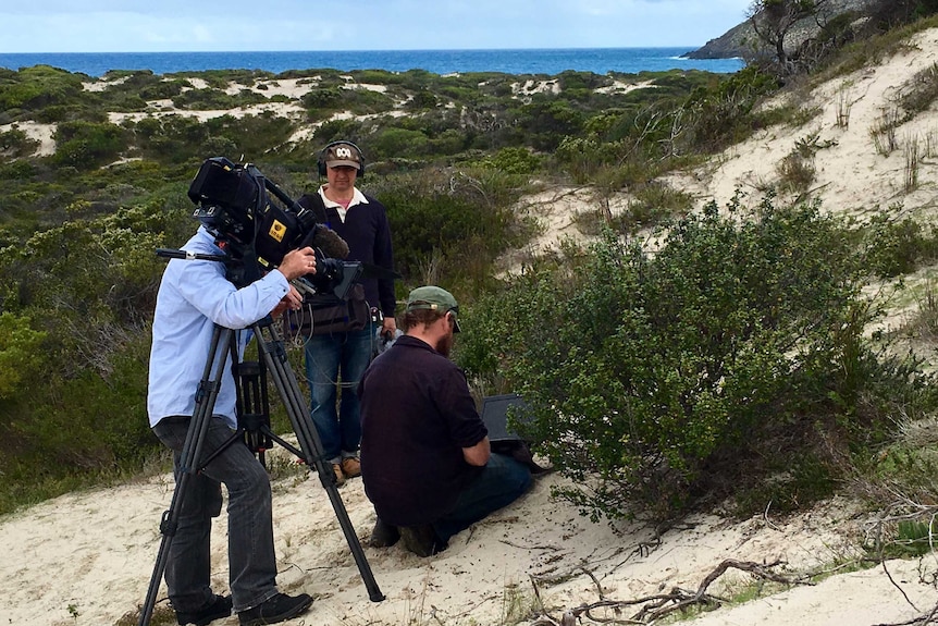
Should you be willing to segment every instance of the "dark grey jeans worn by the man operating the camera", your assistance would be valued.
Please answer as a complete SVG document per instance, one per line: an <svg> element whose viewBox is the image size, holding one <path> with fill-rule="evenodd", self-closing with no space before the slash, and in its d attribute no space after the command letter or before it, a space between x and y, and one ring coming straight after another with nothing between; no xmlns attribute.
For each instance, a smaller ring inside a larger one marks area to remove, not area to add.
<svg viewBox="0 0 938 626"><path fill-rule="evenodd" d="M173 451L174 475L180 462L188 417L163 418L153 432ZM202 444L207 458L234 431L213 417ZM176 613L195 613L214 600L210 586L212 517L221 513L224 483L229 492L229 584L235 611L246 611L277 593L273 547L270 478L250 450L236 440L192 475L180 504L180 524L166 556L165 579Z"/></svg>

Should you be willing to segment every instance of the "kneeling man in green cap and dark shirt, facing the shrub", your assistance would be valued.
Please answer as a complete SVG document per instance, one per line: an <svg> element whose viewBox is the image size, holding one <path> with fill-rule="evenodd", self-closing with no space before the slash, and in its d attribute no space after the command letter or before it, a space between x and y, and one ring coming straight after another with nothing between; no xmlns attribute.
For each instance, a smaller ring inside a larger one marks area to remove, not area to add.
<svg viewBox="0 0 938 626"><path fill-rule="evenodd" d="M361 476L378 514L371 545L403 539L430 556L531 487L528 466L491 452L466 377L448 358L458 310L441 287L410 292L405 334L359 384Z"/></svg>

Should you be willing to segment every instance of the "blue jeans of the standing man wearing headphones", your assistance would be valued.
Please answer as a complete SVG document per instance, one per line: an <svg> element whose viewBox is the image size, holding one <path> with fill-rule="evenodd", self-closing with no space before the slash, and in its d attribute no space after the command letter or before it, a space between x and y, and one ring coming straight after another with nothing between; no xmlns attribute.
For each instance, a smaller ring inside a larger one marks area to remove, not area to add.
<svg viewBox="0 0 938 626"><path fill-rule="evenodd" d="M351 456L358 452L361 442L358 382L371 363L373 341L374 329L370 323L359 331L307 337L310 414L328 462L338 463L343 453Z"/></svg>

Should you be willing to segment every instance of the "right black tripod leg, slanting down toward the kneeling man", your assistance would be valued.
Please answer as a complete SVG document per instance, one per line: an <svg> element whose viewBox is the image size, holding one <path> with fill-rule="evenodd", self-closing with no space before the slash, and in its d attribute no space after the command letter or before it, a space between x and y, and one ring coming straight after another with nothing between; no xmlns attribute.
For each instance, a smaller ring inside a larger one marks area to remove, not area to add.
<svg viewBox="0 0 938 626"><path fill-rule="evenodd" d="M317 474L319 474L319 480L325 489L326 494L329 494L329 501L332 503L332 508L338 518L338 525L342 527L342 532L345 535L345 540L348 542L348 548L351 551L356 565L358 565L358 572L365 581L368 597L372 602L381 602L384 600L384 594L378 588L378 582L371 573L371 566L368 564L365 552L361 550L361 543L358 541L358 535L355 533L355 527L351 525L348 512L345 510L345 504L338 494L338 487L335 484L335 475L332 471L332 466L323 458L322 442L319 439L319 433L316 431L309 412L306 409L306 401L299 390L299 384L296 382L296 376L294 376L293 369L289 367L289 361L286 359L286 351L284 349L283 342L269 317L257 322L254 326L254 331L257 335L258 344L261 346L261 353L263 354L268 371L271 372L274 385L283 398L287 416L296 432L306 463L310 469L316 468Z"/></svg>

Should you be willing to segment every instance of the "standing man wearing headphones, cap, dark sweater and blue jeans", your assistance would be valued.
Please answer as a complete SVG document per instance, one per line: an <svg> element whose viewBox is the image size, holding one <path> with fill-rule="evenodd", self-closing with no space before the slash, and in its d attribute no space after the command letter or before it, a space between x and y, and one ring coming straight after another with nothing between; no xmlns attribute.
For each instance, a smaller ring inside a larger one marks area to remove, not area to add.
<svg viewBox="0 0 938 626"><path fill-rule="evenodd" d="M326 182L317 194L306 195L298 202L313 210L321 223L345 240L347 260L393 275L394 254L386 209L355 186L365 175L361 150L351 142L333 142L319 154L317 165L320 179L325 177ZM393 336L397 330L394 279L363 278L360 283L374 314L371 323L347 332L317 333L313 329L305 348L312 421L337 484L361 475L358 459L361 421L356 390L373 354L375 327L381 324L382 335Z"/></svg>

